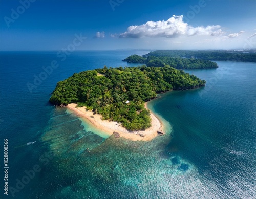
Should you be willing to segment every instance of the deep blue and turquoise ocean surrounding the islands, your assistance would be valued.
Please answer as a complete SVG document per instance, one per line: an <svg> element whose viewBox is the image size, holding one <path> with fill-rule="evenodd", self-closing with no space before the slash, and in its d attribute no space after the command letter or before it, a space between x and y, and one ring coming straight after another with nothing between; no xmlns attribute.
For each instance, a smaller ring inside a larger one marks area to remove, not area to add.
<svg viewBox="0 0 256 199"><path fill-rule="evenodd" d="M256 63L185 70L206 86L152 100L167 133L150 142L103 136L48 103L58 81L148 52L0 52L0 198L256 198Z"/></svg>

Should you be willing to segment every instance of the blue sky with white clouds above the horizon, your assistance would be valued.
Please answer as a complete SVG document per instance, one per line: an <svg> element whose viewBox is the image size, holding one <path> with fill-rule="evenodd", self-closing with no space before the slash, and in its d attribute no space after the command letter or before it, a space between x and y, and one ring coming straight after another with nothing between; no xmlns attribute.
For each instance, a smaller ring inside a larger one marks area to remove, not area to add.
<svg viewBox="0 0 256 199"><path fill-rule="evenodd" d="M0 50L256 49L255 0L0 0Z"/></svg>

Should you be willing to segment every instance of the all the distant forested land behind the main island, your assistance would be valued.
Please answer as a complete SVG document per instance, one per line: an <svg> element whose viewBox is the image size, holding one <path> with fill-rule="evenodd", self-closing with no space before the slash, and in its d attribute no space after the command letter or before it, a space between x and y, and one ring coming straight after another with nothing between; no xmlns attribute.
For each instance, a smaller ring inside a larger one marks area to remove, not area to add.
<svg viewBox="0 0 256 199"><path fill-rule="evenodd" d="M128 63L144 63L147 67L170 65L176 69L212 69L218 68L218 61L256 62L256 53L250 51L192 51L192 50L157 50L139 56L131 55L124 59Z"/></svg>

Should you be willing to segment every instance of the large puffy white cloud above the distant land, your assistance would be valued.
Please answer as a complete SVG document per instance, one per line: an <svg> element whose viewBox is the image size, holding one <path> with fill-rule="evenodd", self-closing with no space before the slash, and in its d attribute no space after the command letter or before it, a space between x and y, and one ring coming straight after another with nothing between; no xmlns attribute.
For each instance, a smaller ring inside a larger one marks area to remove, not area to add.
<svg viewBox="0 0 256 199"><path fill-rule="evenodd" d="M139 26L129 26L127 31L121 33L119 38L142 38L142 37L179 37L193 35L219 36L224 34L221 26L192 27L183 21L183 16L173 15L164 21L147 21Z"/></svg>

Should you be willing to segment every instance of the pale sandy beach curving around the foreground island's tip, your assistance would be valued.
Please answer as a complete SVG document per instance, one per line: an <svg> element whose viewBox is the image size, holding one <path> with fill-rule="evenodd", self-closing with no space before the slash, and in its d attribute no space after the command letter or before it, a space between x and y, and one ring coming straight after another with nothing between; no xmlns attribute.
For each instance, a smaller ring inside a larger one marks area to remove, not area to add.
<svg viewBox="0 0 256 199"><path fill-rule="evenodd" d="M92 111L86 110L86 107L76 107L77 104L68 104L67 108L76 113L78 117L89 120L95 127L107 132L109 135L112 135L113 132L118 132L121 137L133 140L133 141L150 141L153 138L159 136L157 131L162 131L162 123L160 120L150 112L151 117L151 127L146 130L139 131L129 131L126 128L122 127L120 123L102 120L99 114L93 114ZM147 103L145 103L145 108L147 108ZM93 117L92 117L93 116ZM140 134L145 135L144 137Z"/></svg>

